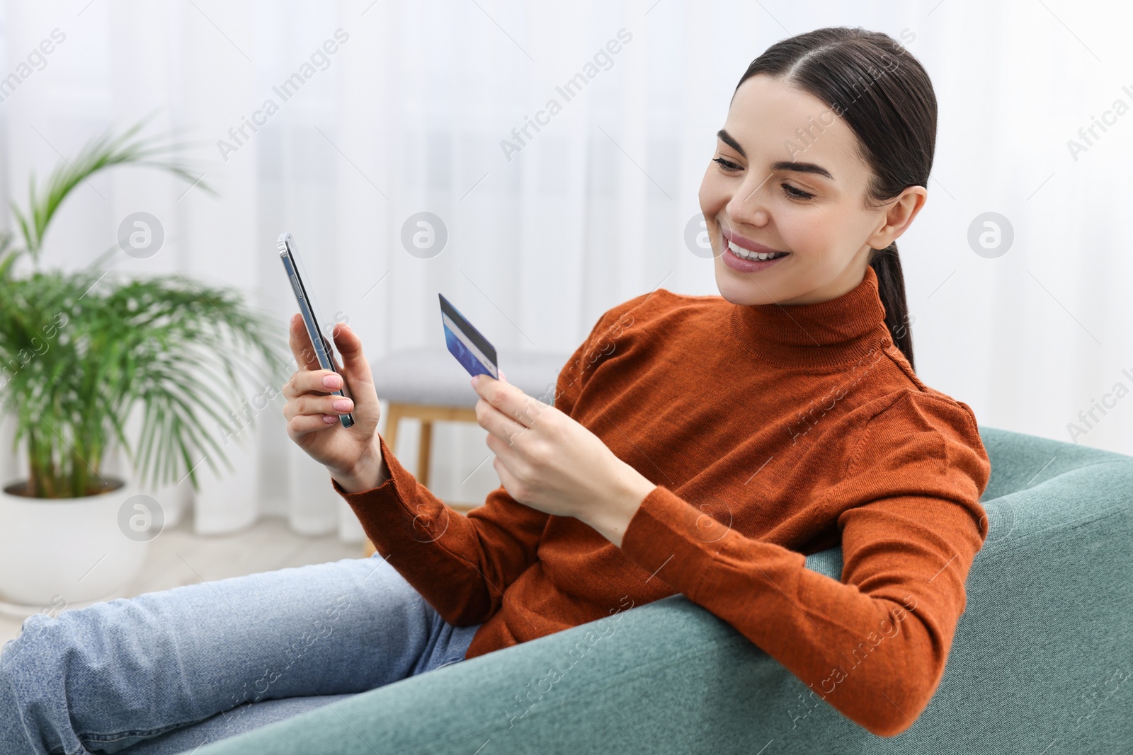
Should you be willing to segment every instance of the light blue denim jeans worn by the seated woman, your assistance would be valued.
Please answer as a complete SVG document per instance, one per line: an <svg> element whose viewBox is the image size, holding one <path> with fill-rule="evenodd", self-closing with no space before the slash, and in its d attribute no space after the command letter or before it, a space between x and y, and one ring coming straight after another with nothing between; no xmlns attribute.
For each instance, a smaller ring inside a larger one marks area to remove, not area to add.
<svg viewBox="0 0 1133 755"><path fill-rule="evenodd" d="M463 660L380 555L37 614L0 653L0 753L187 753Z"/></svg>

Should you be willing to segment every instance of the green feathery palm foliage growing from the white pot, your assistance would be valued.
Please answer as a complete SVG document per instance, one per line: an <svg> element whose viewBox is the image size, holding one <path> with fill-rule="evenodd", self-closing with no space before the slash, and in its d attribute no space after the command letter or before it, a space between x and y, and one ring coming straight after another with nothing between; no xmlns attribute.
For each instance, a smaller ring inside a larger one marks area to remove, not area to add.
<svg viewBox="0 0 1133 755"><path fill-rule="evenodd" d="M14 449L28 455L28 492L78 497L99 490L114 444L151 487L188 477L202 462L231 469L224 447L240 439L241 397L278 386L288 367L286 328L233 290L184 275L121 278L102 273L118 250L76 272L40 271L51 220L69 192L113 165L147 165L194 181L169 155L184 144L139 137L143 123L92 139L15 207L23 248L0 234L0 412L16 420ZM15 274L28 254L34 269ZM130 437L128 420L140 412ZM232 414L230 414L232 412Z"/></svg>

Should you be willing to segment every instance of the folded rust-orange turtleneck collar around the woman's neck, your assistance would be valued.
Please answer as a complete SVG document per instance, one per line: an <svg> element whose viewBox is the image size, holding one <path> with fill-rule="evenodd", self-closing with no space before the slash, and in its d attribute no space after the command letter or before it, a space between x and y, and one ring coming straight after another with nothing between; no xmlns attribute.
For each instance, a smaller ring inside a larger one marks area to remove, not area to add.
<svg viewBox="0 0 1133 755"><path fill-rule="evenodd" d="M813 304L730 304L732 334L757 359L776 367L829 368L887 349L877 274L853 290Z"/></svg>

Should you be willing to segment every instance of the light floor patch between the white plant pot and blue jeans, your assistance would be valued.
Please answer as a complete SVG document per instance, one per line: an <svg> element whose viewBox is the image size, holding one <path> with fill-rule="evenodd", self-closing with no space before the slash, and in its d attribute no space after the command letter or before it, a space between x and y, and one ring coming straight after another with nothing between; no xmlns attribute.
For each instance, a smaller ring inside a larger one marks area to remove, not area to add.
<svg viewBox="0 0 1133 755"><path fill-rule="evenodd" d="M244 532L208 537L194 534L189 518L165 530L151 543L142 573L127 590L127 597L363 556L361 543L341 542L337 534L318 538L296 534L282 518L265 518ZM23 619L0 614L0 646L19 634L22 624Z"/></svg>

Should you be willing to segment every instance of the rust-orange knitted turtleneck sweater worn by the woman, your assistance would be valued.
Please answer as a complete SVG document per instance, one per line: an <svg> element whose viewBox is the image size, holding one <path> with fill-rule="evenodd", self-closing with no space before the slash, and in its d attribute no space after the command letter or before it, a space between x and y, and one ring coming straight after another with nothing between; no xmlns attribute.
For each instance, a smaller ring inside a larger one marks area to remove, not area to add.
<svg viewBox="0 0 1133 755"><path fill-rule="evenodd" d="M462 516L384 439L390 480L332 484L446 621L483 624L467 658L681 592L892 736L944 674L990 464L971 409L917 378L884 316L871 268L816 304L659 289L603 315L554 405L657 486L621 548L503 486ZM804 568L840 542L841 581Z"/></svg>

